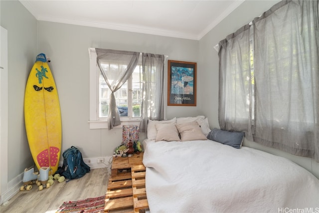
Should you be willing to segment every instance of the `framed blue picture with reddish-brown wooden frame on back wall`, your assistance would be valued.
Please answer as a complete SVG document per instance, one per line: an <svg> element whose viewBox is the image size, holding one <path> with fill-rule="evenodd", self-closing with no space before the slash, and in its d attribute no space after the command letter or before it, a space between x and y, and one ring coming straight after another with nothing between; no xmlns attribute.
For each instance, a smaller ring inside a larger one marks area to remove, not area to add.
<svg viewBox="0 0 319 213"><path fill-rule="evenodd" d="M168 106L196 106L196 63L168 60Z"/></svg>

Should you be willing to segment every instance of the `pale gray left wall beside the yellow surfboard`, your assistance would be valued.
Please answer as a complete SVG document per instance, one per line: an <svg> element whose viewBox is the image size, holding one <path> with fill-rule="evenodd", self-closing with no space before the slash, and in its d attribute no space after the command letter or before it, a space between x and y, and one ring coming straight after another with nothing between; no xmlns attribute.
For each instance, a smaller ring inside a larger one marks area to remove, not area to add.
<svg viewBox="0 0 319 213"><path fill-rule="evenodd" d="M37 21L19 1L1 0L0 4L0 23L7 30L8 48L7 142L6 146L1 144L1 149L6 149L1 153L6 152L7 159L1 157L2 202L14 193L10 191L13 185L20 185L19 174L33 164L25 134L23 101L25 83L37 52ZM7 164L6 168L2 167L2 160ZM3 180L7 182L3 183Z"/></svg>

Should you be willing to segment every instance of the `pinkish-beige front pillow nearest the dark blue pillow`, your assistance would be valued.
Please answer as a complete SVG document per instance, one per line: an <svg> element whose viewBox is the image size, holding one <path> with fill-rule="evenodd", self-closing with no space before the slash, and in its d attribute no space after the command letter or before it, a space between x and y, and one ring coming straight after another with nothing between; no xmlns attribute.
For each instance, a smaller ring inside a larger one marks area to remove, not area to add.
<svg viewBox="0 0 319 213"><path fill-rule="evenodd" d="M181 141L207 140L196 121L188 124L176 124L175 126L178 129Z"/></svg>

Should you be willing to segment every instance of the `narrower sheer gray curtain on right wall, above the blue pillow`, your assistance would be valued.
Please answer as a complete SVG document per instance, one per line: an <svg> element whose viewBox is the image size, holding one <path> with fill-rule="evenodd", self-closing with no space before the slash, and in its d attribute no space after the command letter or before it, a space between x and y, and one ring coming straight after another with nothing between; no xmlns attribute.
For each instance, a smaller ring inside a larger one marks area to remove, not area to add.
<svg viewBox="0 0 319 213"><path fill-rule="evenodd" d="M221 129L245 132L252 140L251 47L249 24L219 42L218 121Z"/></svg>

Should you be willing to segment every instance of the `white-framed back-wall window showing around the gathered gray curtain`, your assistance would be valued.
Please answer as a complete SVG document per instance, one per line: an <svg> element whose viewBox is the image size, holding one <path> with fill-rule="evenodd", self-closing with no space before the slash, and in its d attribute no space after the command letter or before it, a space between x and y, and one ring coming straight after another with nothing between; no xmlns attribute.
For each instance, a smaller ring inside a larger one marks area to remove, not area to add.
<svg viewBox="0 0 319 213"><path fill-rule="evenodd" d="M109 97L111 90L96 63L95 48L89 48L90 55L90 128L107 128ZM142 56L140 56L141 59ZM103 64L106 69L118 68L121 64ZM123 66L122 69L126 67ZM138 125L141 120L142 105L142 60L139 60L133 74L114 93L122 125ZM122 128L122 125L117 126Z"/></svg>

